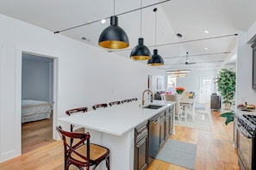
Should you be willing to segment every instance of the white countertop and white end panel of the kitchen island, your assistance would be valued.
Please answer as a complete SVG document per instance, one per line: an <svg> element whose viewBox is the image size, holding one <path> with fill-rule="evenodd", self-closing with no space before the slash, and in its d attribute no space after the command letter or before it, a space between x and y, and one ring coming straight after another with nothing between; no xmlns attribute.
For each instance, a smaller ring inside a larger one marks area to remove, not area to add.
<svg viewBox="0 0 256 170"><path fill-rule="evenodd" d="M174 102L154 100L158 109L140 107L139 102L130 102L118 106L109 106L90 112L59 118L59 125L68 130L69 124L83 126L91 133L91 143L98 143L110 149L111 170L134 169L134 129L147 124L150 118L165 112ZM174 115L172 114L172 133L174 133ZM97 169L105 169L104 163Z"/></svg>

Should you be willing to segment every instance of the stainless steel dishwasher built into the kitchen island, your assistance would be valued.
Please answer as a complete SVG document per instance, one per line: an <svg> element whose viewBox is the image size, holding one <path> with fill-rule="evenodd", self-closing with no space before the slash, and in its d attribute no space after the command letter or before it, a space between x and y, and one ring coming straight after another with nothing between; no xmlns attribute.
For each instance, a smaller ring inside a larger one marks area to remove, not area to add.
<svg viewBox="0 0 256 170"><path fill-rule="evenodd" d="M160 124L159 115L149 119L149 141L148 141L148 164L150 164L153 159L159 153L160 147Z"/></svg>

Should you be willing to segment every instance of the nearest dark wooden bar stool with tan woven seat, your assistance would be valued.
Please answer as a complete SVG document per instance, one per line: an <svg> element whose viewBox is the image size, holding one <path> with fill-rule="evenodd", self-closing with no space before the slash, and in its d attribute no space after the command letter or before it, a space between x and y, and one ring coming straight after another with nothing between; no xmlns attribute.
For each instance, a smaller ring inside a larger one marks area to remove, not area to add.
<svg viewBox="0 0 256 170"><path fill-rule="evenodd" d="M110 150L101 145L90 143L90 133L78 133L63 131L61 126L56 127L64 144L64 161L65 170L68 170L71 165L82 170L83 167L89 170L92 167L96 169L102 161L106 161L106 167L109 170L109 154ZM74 139L73 143L67 141Z"/></svg>

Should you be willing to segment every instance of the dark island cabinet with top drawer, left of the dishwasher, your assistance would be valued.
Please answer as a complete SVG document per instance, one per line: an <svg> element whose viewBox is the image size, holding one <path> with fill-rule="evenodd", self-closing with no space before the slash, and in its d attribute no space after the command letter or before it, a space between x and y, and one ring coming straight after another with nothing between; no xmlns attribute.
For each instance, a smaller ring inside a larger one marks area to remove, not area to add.
<svg viewBox="0 0 256 170"><path fill-rule="evenodd" d="M134 170L144 170L148 166L148 124L140 124L134 129Z"/></svg>

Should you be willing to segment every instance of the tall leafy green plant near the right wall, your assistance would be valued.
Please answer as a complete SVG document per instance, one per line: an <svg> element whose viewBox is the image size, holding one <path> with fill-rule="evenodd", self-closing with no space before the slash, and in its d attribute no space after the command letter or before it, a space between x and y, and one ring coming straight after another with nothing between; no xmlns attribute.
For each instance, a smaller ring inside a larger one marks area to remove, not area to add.
<svg viewBox="0 0 256 170"><path fill-rule="evenodd" d="M230 111L220 115L227 118L225 124L228 124L234 120L234 111L231 110L231 106L234 105L235 72L232 69L222 69L216 78L216 83L217 89L222 95L224 110Z"/></svg>

